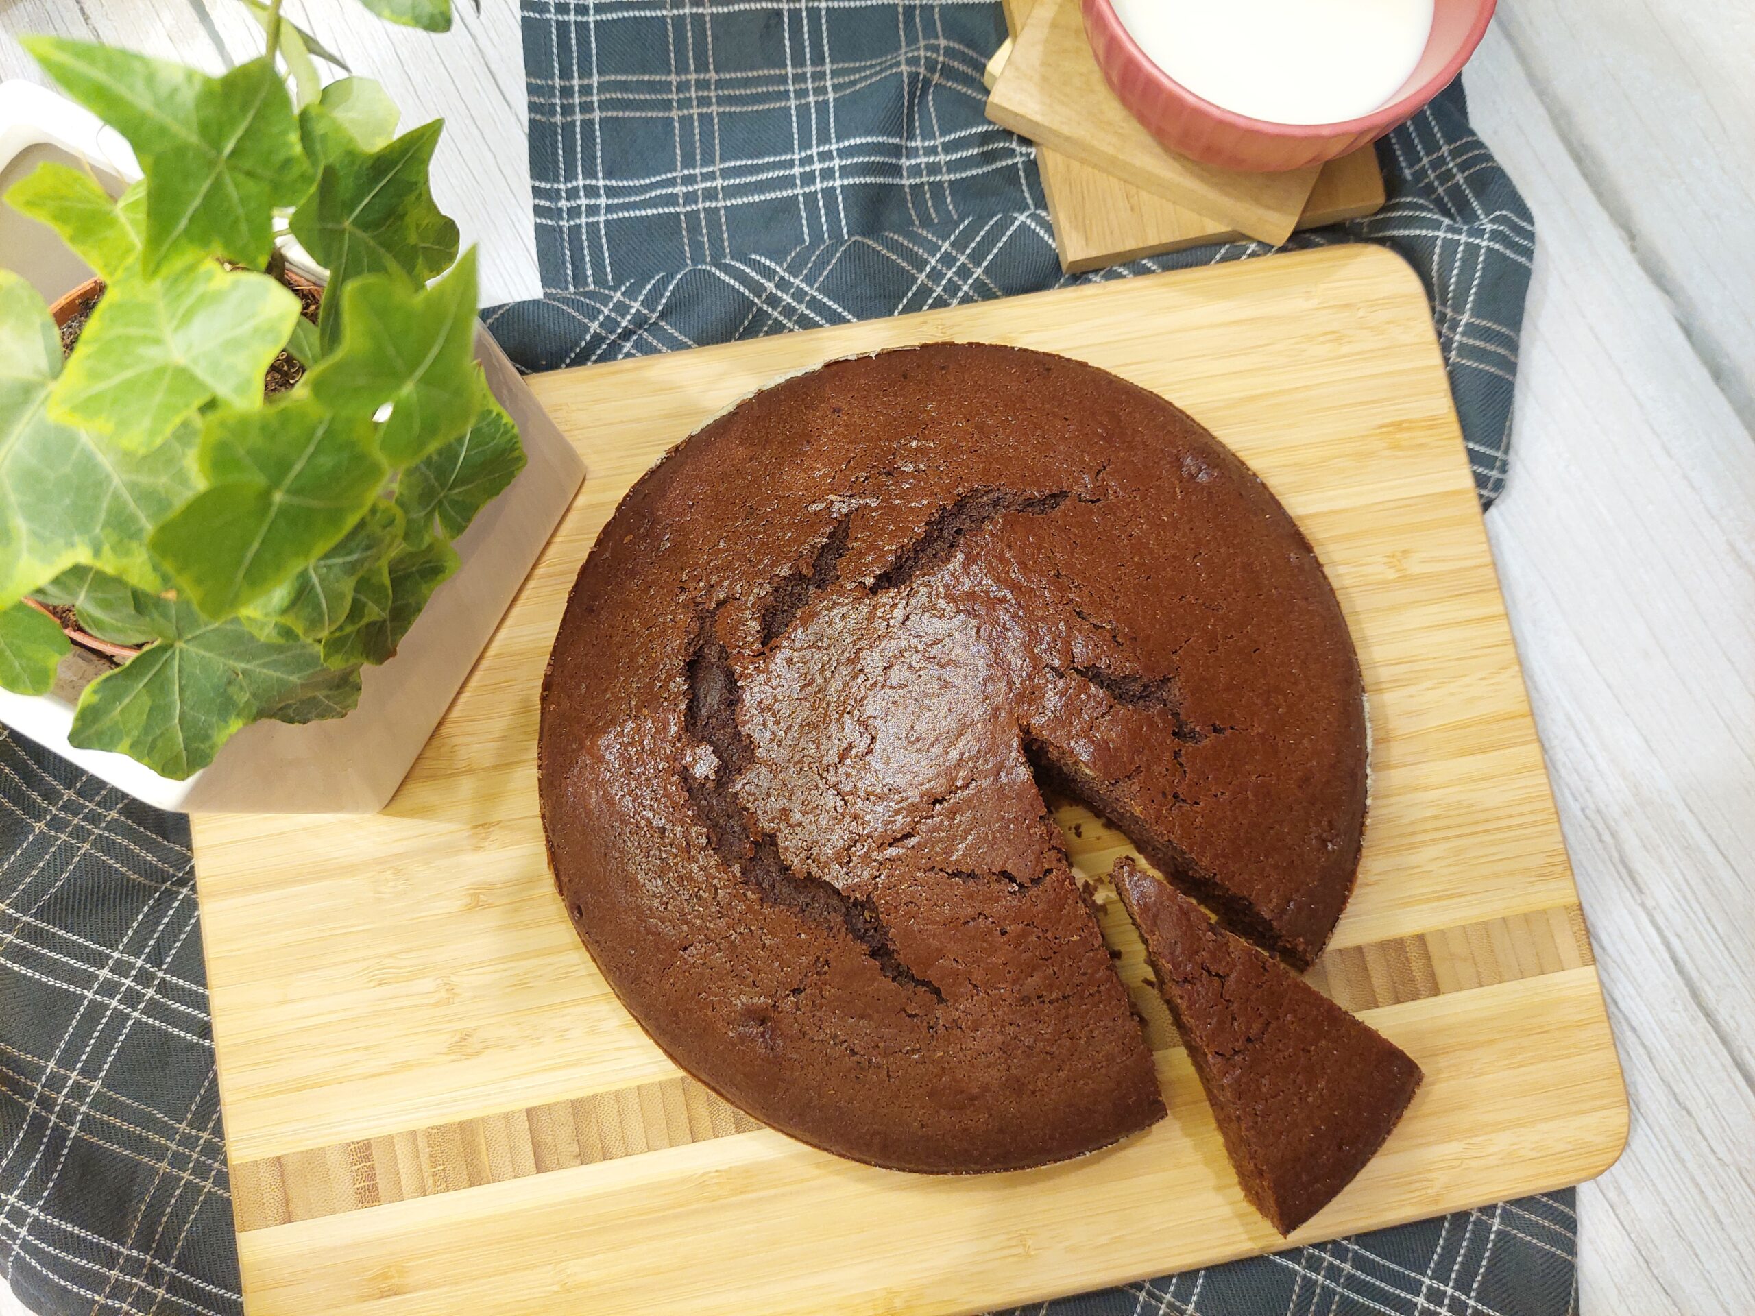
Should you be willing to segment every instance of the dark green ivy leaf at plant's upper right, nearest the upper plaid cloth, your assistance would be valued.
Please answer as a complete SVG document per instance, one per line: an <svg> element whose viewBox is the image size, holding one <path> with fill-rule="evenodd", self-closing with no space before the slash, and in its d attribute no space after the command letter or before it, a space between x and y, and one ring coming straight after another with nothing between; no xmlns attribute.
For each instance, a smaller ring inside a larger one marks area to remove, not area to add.
<svg viewBox="0 0 1755 1316"><path fill-rule="evenodd" d="M318 125L328 118L309 107L305 116ZM442 128L433 119L377 151L362 149L351 130L314 130L323 168L293 211L293 237L328 268L332 288L363 274L426 283L456 258L456 225L426 184Z"/></svg>

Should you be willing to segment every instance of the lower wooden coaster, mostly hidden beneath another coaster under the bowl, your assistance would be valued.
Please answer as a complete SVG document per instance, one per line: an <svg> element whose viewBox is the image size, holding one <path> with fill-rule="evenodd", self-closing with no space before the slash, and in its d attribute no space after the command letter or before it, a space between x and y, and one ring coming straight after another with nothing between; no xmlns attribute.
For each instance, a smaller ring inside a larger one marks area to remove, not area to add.
<svg viewBox="0 0 1755 1316"><path fill-rule="evenodd" d="M1011 0L1006 26L1011 39L993 53L981 75L992 91L1016 40L1018 30L1035 7L1035 0ZM1107 265L1162 256L1167 251L1239 242L1248 235L1178 205L1169 197L1135 188L1095 165L1086 165L1049 146L1035 147L1035 168L1048 198L1048 218L1055 226L1055 251L1060 268L1085 274ZM1320 228L1343 219L1358 219L1383 209L1383 170L1376 147L1364 146L1322 167L1311 195L1299 212L1295 228Z"/></svg>

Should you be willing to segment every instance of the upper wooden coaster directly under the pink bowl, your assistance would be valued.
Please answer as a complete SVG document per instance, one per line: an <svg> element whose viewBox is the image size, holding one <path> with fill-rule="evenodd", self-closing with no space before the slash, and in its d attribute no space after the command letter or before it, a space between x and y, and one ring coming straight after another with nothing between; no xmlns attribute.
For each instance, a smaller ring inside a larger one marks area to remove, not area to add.
<svg viewBox="0 0 1755 1316"><path fill-rule="evenodd" d="M1078 163L1279 246L1297 226L1320 167L1237 174L1174 156L1158 146L1104 82L1085 40L1078 0L1011 0L1023 18L988 118ZM1025 18L1021 11L1028 9Z"/></svg>

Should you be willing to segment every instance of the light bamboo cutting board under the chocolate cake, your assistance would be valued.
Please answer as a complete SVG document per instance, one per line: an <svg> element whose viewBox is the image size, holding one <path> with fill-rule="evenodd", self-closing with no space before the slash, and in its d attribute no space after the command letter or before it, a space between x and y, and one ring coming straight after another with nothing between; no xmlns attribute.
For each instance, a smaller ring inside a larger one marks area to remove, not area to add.
<svg viewBox="0 0 1755 1316"><path fill-rule="evenodd" d="M1334 577L1374 793L1313 976L1427 1081L1295 1237L1615 1160L1620 1069L1430 312L1402 261L1346 246L534 379L586 483L391 805L195 819L249 1316L974 1312L1283 1246L1244 1205L1127 941L1169 1118L1067 1165L920 1177L758 1128L679 1074L553 893L537 688L616 500L751 390L934 339L1067 353L1174 398ZM1076 867L1107 870L1123 842L1064 821Z"/></svg>

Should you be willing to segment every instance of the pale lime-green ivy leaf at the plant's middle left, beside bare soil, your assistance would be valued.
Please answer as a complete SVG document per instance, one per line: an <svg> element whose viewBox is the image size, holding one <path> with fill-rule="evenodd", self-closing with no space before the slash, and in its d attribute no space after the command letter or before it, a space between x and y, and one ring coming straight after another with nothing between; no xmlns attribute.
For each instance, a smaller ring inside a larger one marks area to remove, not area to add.
<svg viewBox="0 0 1755 1316"><path fill-rule="evenodd" d="M197 261L119 279L79 335L49 400L54 419L146 449L218 397L261 405L261 379L298 319L298 298L265 274Z"/></svg>

